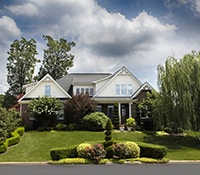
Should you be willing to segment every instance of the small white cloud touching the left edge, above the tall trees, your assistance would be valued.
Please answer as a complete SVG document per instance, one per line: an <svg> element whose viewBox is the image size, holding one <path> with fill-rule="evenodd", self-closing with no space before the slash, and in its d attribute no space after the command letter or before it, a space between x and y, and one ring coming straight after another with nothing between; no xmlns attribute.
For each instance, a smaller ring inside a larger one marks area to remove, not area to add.
<svg viewBox="0 0 200 175"><path fill-rule="evenodd" d="M21 31L12 18L8 16L0 18L0 43L7 44L8 41L18 37L20 34Z"/></svg>

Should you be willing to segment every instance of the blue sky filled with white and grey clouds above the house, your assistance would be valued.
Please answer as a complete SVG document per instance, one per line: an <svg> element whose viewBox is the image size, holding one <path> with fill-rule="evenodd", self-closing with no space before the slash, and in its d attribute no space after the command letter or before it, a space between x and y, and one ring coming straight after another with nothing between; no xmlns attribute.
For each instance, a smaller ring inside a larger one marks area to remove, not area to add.
<svg viewBox="0 0 200 175"><path fill-rule="evenodd" d="M200 0L0 0L0 93L8 89L7 52L43 35L74 41L69 72L114 73L125 66L157 89L157 66L200 51ZM37 74L40 64L37 64Z"/></svg>

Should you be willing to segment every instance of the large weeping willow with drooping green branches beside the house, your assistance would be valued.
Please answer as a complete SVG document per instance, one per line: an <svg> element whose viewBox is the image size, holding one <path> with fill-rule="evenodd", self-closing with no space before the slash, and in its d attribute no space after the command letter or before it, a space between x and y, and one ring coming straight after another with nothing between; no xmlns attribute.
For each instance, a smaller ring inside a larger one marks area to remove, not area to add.
<svg viewBox="0 0 200 175"><path fill-rule="evenodd" d="M158 87L164 125L200 130L200 52L159 65Z"/></svg>

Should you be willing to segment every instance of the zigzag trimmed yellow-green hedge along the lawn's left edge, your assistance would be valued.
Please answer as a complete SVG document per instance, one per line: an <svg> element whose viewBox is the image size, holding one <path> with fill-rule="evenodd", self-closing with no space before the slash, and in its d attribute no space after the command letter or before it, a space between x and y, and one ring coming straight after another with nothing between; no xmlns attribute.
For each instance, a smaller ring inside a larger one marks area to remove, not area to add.
<svg viewBox="0 0 200 175"><path fill-rule="evenodd" d="M0 153L6 152L9 146L18 144L20 141L20 136L23 136L23 134L23 127L18 127L15 131L11 132L12 137L6 139L6 141L0 145Z"/></svg>

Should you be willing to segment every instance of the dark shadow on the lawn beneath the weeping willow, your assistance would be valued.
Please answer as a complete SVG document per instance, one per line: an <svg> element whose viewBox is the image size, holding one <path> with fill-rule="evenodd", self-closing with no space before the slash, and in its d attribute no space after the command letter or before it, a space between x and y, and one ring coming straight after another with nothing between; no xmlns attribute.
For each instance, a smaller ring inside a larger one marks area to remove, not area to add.
<svg viewBox="0 0 200 175"><path fill-rule="evenodd" d="M144 141L147 143L164 145L169 149L180 149L183 146L200 149L200 139L194 136L186 136L186 135L158 136L155 133L148 133L148 135L144 137Z"/></svg>

